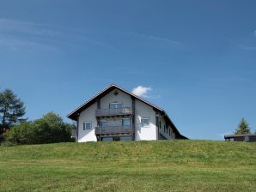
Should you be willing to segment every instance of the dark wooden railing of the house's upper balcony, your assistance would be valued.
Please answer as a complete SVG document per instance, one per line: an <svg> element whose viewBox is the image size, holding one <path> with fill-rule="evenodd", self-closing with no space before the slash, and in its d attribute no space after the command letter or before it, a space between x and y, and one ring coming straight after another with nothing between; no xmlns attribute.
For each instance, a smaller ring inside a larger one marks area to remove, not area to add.
<svg viewBox="0 0 256 192"><path fill-rule="evenodd" d="M131 114L132 114L131 107L96 110L96 117L125 116L125 115L131 115Z"/></svg>

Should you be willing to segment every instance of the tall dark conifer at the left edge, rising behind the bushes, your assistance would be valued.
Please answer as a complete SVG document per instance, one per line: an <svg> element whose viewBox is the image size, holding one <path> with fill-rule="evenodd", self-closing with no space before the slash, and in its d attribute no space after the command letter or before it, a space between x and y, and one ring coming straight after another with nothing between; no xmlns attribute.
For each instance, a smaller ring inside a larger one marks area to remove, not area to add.
<svg viewBox="0 0 256 192"><path fill-rule="evenodd" d="M9 129L16 123L20 123L25 115L25 107L21 99L10 90L0 92L0 134L4 129Z"/></svg>

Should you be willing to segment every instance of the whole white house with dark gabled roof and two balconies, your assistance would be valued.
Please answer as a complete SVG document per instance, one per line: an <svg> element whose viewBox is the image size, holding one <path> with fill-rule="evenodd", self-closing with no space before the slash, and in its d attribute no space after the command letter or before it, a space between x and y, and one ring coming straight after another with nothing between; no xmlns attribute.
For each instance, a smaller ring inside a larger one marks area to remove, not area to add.
<svg viewBox="0 0 256 192"><path fill-rule="evenodd" d="M78 142L187 139L162 108L114 84L68 117L76 121Z"/></svg>

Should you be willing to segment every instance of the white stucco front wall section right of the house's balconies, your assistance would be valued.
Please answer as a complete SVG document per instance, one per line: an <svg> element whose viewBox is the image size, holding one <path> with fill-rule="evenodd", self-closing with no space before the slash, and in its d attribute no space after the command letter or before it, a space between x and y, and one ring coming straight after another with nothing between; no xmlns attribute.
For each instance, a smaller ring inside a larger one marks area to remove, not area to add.
<svg viewBox="0 0 256 192"><path fill-rule="evenodd" d="M153 107L135 99L135 140L156 140L155 111ZM149 118L149 128L142 128L141 119Z"/></svg>

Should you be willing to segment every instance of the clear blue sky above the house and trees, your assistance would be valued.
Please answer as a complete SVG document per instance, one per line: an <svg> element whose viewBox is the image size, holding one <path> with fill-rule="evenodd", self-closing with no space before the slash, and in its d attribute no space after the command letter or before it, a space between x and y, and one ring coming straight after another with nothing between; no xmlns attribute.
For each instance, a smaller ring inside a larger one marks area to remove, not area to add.
<svg viewBox="0 0 256 192"><path fill-rule="evenodd" d="M0 2L0 91L33 120L65 116L110 83L141 86L183 135L256 129L256 2ZM145 88L146 87L146 88Z"/></svg>

